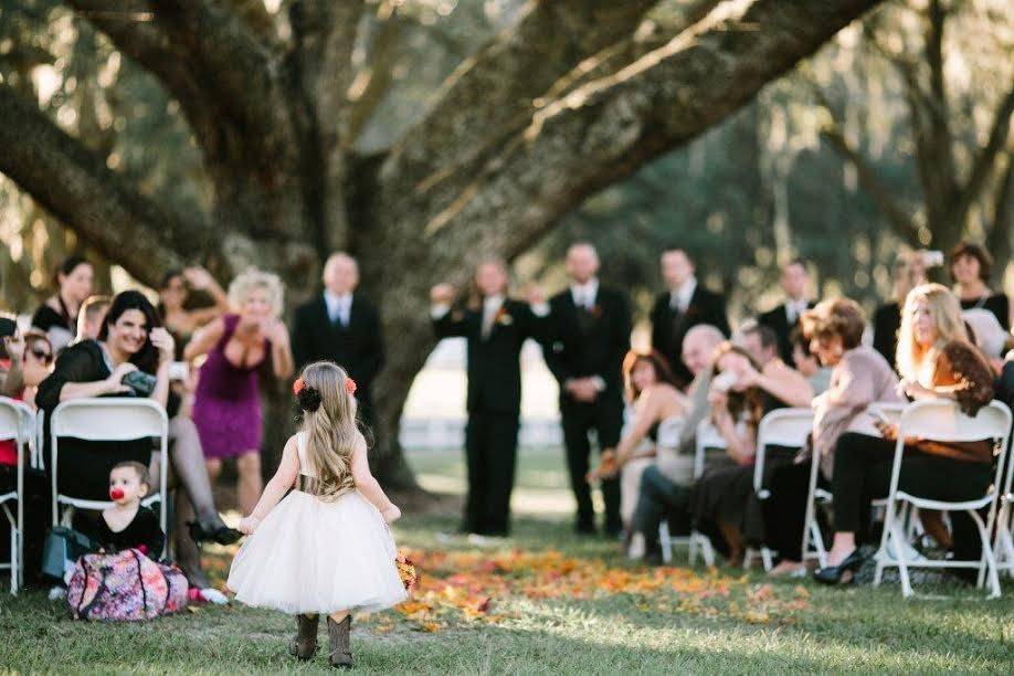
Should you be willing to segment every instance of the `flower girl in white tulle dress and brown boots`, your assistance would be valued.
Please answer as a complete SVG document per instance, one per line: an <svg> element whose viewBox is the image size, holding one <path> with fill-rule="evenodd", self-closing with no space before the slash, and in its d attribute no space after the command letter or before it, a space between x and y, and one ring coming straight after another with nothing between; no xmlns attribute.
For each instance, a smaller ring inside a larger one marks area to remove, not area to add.
<svg viewBox="0 0 1014 676"><path fill-rule="evenodd" d="M307 366L296 380L303 430L285 444L278 472L240 521L250 537L228 582L242 603L296 615L289 652L299 659L314 656L317 621L327 615L336 667L352 666L353 609L381 610L406 598L388 526L401 511L370 474L355 391L356 382L328 361Z"/></svg>

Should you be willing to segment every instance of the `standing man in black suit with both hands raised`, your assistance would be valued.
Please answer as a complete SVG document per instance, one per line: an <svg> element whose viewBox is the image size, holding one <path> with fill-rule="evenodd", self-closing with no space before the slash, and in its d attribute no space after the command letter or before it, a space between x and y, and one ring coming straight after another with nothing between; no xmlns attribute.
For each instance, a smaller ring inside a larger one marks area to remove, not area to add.
<svg viewBox="0 0 1014 676"><path fill-rule="evenodd" d="M507 283L506 265L489 260L475 273L479 298L474 307L453 307L456 293L451 285L440 284L430 292L436 337L467 340L468 494L462 531L493 537L510 530L521 413L521 347L528 338L545 336L549 314L540 292L529 293L529 307L506 296Z"/></svg>

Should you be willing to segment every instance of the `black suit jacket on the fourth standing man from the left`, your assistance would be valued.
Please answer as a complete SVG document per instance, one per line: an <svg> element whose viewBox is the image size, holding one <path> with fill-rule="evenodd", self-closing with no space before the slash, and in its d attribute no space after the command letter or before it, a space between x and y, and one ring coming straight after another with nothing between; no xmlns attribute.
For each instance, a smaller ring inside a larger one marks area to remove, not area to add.
<svg viewBox="0 0 1014 676"><path fill-rule="evenodd" d="M652 347L661 352L673 367L673 374L680 384L689 384L694 374L683 363L683 339L691 328L699 324L710 324L729 336L729 320L726 318L726 298L697 285L687 311L683 315L669 306L669 292L658 294L652 307Z"/></svg>

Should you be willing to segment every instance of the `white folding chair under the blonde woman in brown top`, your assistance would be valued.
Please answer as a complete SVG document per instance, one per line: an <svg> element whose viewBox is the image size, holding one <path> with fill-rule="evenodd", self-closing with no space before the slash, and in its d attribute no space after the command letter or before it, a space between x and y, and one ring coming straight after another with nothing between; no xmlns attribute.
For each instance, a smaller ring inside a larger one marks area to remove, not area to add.
<svg viewBox="0 0 1014 676"><path fill-rule="evenodd" d="M963 501L932 500L919 497L898 489L898 477L901 473L901 457L905 453L905 439L918 436L938 442L973 442L983 439L993 440L999 448L996 458L996 473L993 485L985 495ZM1000 596L1000 579L996 573L996 561L993 547L990 542L990 529L996 516L996 498L1000 480L1003 474L1004 458L1007 452L1007 442L1011 436L1011 410L999 401L983 406L975 418L962 413L958 405L949 399L930 399L909 404L901 413L898 423L898 441L895 444L895 462L891 471L890 492L887 496L887 508L884 517L884 535L880 538L880 549L877 552L877 570L874 585L878 585L884 575L884 569L896 567L901 578L901 593L910 596L912 593L909 580L909 568L978 568L979 585L983 577L989 578L991 599ZM963 510L969 514L979 529L982 541L982 556L979 561L955 561L921 559L908 561L906 557L905 516L909 507L920 509ZM985 524L979 516L979 510L989 507ZM894 545L894 547L891 547Z"/></svg>

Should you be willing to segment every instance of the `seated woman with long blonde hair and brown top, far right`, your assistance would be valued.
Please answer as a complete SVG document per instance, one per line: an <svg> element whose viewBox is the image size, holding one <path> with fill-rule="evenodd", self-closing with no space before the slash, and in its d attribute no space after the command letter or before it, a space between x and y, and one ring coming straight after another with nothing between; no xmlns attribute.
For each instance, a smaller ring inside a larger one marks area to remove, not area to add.
<svg viewBox="0 0 1014 676"><path fill-rule="evenodd" d="M990 366L969 341L958 298L939 284L918 286L906 298L897 365L900 387L911 399L953 399L969 415L993 399ZM898 433L894 424L877 426L883 436L848 432L837 440L832 477L834 542L827 567L814 573L818 582L848 581L863 563L857 534L865 534L870 500L885 497L890 487ZM906 446L900 490L957 501L980 497L990 485L993 445L989 441L911 440ZM954 513L951 522L958 558L976 558L978 553L968 556L978 541L970 517Z"/></svg>

